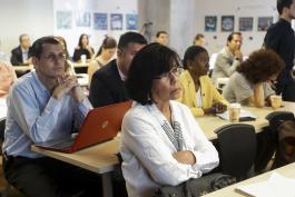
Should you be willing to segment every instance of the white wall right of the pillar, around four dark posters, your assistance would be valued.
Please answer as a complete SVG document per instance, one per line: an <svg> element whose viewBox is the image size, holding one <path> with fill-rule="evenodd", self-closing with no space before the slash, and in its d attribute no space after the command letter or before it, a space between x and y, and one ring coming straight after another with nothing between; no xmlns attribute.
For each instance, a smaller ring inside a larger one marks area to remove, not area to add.
<svg viewBox="0 0 295 197"><path fill-rule="evenodd" d="M243 47L242 50L244 55L248 55L250 51L258 49L263 45L263 39L265 37L265 31L257 31L257 21L258 17L274 17L276 21L278 18L276 11L276 0L223 0L216 3L216 0L196 0L194 11L195 24L193 27L194 35L190 35L190 38L195 37L197 32L205 35L208 45L206 48L208 51L218 52L226 43L226 38L229 32L220 31L220 17L226 14L235 16L235 31L238 31L238 18L239 17L253 17L254 18L254 30L244 31L243 33ZM204 18L205 16L217 16L217 31L216 32L204 32ZM214 39L214 37L217 37ZM253 40L249 39L253 37Z"/></svg>

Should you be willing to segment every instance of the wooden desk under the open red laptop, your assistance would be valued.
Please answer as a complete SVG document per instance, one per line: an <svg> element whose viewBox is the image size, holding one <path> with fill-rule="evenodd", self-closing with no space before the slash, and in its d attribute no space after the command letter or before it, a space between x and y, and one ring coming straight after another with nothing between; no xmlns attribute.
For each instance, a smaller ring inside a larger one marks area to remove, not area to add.
<svg viewBox="0 0 295 197"><path fill-rule="evenodd" d="M118 165L115 154L119 151L119 139L86 148L73 154L62 154L31 146L36 152L97 173L102 177L104 197L112 196L110 171Z"/></svg>

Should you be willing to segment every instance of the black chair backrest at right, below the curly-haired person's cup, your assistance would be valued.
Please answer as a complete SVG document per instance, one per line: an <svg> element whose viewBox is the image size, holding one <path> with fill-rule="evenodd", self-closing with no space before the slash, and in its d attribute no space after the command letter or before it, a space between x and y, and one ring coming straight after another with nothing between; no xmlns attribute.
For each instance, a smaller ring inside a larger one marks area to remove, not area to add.
<svg viewBox="0 0 295 197"><path fill-rule="evenodd" d="M277 128L281 124L286 120L294 120L294 114L289 111L274 111L268 114L266 119L269 122L271 129L274 132L277 132Z"/></svg>

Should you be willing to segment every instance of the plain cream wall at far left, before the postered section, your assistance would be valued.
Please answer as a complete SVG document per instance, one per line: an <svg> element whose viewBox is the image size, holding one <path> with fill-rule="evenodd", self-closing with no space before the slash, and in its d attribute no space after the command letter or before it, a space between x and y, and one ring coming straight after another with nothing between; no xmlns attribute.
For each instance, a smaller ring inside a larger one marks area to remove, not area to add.
<svg viewBox="0 0 295 197"><path fill-rule="evenodd" d="M0 0L0 51L7 55L19 45L21 33L31 41L53 33L51 0Z"/></svg>

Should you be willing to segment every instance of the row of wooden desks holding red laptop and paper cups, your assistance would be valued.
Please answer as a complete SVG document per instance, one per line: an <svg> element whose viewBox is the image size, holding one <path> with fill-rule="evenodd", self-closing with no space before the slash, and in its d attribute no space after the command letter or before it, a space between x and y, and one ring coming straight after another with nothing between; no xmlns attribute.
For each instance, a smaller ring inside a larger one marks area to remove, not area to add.
<svg viewBox="0 0 295 197"><path fill-rule="evenodd" d="M295 111L295 102L284 102L283 105L284 107L277 110ZM274 111L271 107L262 109L253 107L244 107L243 109L249 110L257 117L256 121L245 121L245 124L253 125L256 131L260 131L263 127L268 125L268 121L265 119L265 117L269 112ZM222 126L230 124L229 121L222 120L215 116L204 116L204 117L198 117L196 119L208 139L216 139L217 136L214 132L214 130ZM105 197L112 196L110 173L118 165L118 159L115 156L119 151L118 137L108 142L96 145L94 147L73 154L62 154L50 150L43 150L35 146L32 146L32 150L82 167L90 171L100 174L102 176L104 196Z"/></svg>

